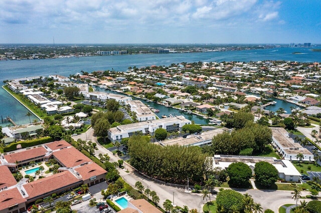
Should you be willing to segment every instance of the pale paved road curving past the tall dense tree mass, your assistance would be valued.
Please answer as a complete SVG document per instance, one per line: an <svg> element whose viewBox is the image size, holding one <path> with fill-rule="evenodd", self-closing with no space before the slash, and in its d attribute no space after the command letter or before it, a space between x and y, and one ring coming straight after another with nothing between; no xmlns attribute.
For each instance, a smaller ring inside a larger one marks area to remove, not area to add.
<svg viewBox="0 0 321 213"><path fill-rule="evenodd" d="M74 139L81 138L86 140L86 134L80 134L73 136ZM96 137L93 135L93 129L90 128L87 131L87 139L91 140L92 142L97 142ZM111 162L117 162L119 159L118 156L113 155L112 152L104 148L103 146L99 145L97 142L98 150L95 151L95 155L98 156L99 153L105 154L107 153L110 156ZM148 186L150 190L156 191L157 195L159 196L159 204L163 204L166 199L173 200L173 193L175 204L183 207L187 205L190 209L196 208L200 212L202 212L202 206L205 203L201 194L196 193L185 193L184 189L171 187L163 184L158 184L149 179L146 179L138 172L135 172L134 169L126 163L125 168L128 169L128 173L121 168L118 168L119 174L122 178L128 182L131 186L134 187L136 181L140 181L145 188ZM216 188L218 190L218 188ZM295 204L294 199L292 199L291 191L280 191L280 190L258 190L258 189L235 189L241 193L249 193L252 195L255 202L261 203L264 209L270 208L274 212L278 212L278 208L286 203L293 203ZM307 195L308 192L302 192L302 195ZM214 196L211 196L213 199ZM308 199L306 199L308 201Z"/></svg>

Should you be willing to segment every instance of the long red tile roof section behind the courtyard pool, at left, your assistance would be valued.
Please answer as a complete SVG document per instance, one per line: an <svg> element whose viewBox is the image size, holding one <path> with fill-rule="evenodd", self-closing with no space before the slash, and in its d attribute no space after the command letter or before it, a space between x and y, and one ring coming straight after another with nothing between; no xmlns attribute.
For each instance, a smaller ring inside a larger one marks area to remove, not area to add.
<svg viewBox="0 0 321 213"><path fill-rule="evenodd" d="M32 159L32 158L44 156L46 152L47 150L41 146L41 147L32 148L25 151L19 151L13 154L7 154L5 155L5 158L8 162L16 163L17 161L21 162L26 159Z"/></svg>

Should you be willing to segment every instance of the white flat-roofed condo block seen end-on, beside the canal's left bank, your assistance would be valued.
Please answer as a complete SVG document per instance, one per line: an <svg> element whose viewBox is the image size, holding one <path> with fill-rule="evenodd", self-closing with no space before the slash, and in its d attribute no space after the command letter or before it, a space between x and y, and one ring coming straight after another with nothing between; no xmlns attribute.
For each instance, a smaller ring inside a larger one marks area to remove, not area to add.
<svg viewBox="0 0 321 213"><path fill-rule="evenodd" d="M156 115L140 100L127 101L130 111L136 112L138 121L155 120Z"/></svg>

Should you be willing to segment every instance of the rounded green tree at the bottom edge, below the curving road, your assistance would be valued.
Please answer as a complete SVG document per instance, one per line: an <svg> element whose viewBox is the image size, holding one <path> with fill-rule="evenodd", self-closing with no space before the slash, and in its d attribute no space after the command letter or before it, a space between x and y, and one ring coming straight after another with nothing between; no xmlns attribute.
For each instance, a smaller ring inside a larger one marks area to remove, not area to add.
<svg viewBox="0 0 321 213"><path fill-rule="evenodd" d="M225 212L236 206L236 210L241 211L244 208L243 194L232 189L223 189L216 196L217 206L224 208Z"/></svg>

